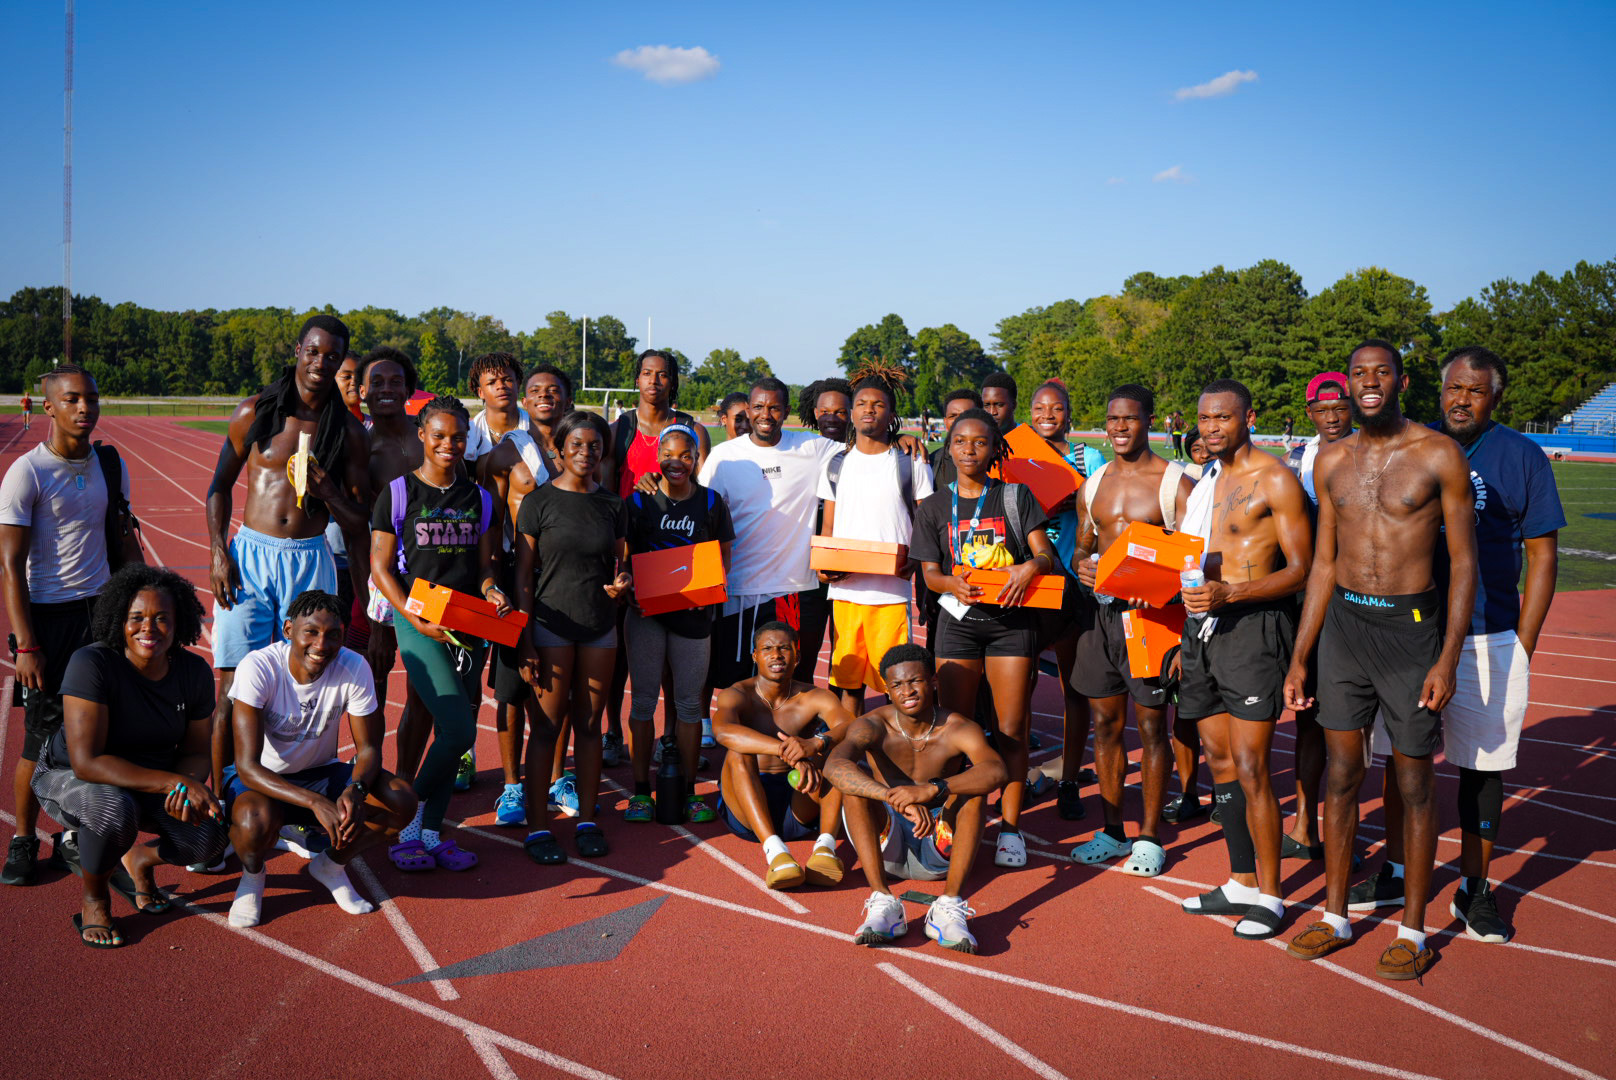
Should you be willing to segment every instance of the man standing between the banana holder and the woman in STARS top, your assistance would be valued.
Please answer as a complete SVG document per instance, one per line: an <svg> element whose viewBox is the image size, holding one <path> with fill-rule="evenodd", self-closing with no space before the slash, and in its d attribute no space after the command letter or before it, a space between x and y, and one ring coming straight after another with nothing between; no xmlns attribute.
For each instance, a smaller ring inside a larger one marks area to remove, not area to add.
<svg viewBox="0 0 1616 1080"><path fill-rule="evenodd" d="M380 493L398 477L420 467L420 435L415 417L406 412L406 404L415 393L415 365L398 349L372 349L359 365L359 393L370 409L370 491ZM373 582L367 582L365 616L365 660L370 663L377 694L386 703L388 676L398 661L398 639L393 635L393 605ZM404 713L398 731L399 776L415 774L430 731L431 716L406 679Z"/></svg>

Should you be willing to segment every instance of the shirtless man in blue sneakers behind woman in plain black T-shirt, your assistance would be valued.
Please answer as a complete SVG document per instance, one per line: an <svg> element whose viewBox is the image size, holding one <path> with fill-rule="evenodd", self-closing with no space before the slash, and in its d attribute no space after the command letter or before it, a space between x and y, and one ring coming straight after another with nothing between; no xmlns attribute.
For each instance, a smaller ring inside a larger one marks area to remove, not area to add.
<svg viewBox="0 0 1616 1080"><path fill-rule="evenodd" d="M522 509L522 500L538 485L548 483L561 470L551 440L551 430L572 411L572 385L551 365L535 369L524 385L522 404L528 417L527 427L506 432L493 453L477 462L477 479L506 506L506 521L514 522ZM501 589L516 595L516 559L501 558ZM522 737L525 721L533 719L532 710L538 698L517 669L517 650L496 645L493 650L488 686L494 692L494 728L499 734L499 766L504 771L504 787L494 804L494 823L504 826L527 825L527 800L522 787ZM566 740L558 739L558 753L566 753Z"/></svg>

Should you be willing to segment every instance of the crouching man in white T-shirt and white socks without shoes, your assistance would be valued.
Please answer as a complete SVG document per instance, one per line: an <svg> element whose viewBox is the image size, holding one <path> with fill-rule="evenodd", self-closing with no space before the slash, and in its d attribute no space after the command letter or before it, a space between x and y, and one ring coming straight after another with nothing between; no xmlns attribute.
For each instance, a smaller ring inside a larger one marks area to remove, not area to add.
<svg viewBox="0 0 1616 1080"><path fill-rule="evenodd" d="M236 763L225 770L229 839L241 884L233 926L263 912L263 857L283 821L318 826L331 839L309 873L349 915L375 910L347 880L347 862L393 839L415 816L415 792L381 768L381 707L370 664L343 648L347 613L328 592L309 590L286 610L284 640L247 653L229 687ZM343 715L354 760L338 757Z"/></svg>

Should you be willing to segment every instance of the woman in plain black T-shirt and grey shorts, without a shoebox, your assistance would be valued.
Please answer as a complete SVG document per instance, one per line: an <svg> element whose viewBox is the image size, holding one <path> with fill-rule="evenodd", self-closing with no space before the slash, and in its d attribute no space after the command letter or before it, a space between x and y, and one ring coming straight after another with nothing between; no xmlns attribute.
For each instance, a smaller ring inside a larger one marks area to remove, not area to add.
<svg viewBox="0 0 1616 1080"><path fill-rule="evenodd" d="M579 854L609 849L595 823L601 784L601 713L617 660L617 603L629 592L624 501L595 482L611 430L593 412L556 424L561 472L533 488L516 516L517 605L532 616L522 639L522 677L538 690L538 721L527 742L524 842L538 863L567 860L549 831L549 766L562 721L572 728L577 779L562 776L558 802L579 800ZM570 781L570 783L569 783Z"/></svg>

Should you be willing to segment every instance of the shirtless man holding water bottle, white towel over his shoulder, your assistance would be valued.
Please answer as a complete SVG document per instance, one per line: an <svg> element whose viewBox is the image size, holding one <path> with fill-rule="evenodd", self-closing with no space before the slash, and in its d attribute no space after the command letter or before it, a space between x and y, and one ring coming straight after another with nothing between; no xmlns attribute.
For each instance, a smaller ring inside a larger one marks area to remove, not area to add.
<svg viewBox="0 0 1616 1080"><path fill-rule="evenodd" d="M1207 582L1185 589L1178 710L1199 721L1222 810L1230 880L1185 901L1191 915L1236 915L1236 938L1272 938L1280 896L1280 804L1269 776L1273 724L1296 601L1312 559L1307 495L1273 454L1251 445L1251 391L1218 378L1201 391L1201 438L1212 453L1180 527L1206 537Z"/></svg>

